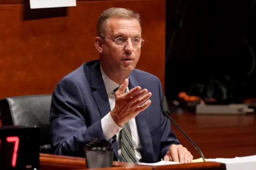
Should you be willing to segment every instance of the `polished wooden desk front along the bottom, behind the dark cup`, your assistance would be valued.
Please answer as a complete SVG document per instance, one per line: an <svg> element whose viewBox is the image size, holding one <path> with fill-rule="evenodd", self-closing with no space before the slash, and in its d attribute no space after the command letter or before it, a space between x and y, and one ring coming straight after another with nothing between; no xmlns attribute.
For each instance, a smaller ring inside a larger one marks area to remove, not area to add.
<svg viewBox="0 0 256 170"><path fill-rule="evenodd" d="M199 162L189 164L176 164L166 166L145 166L124 162L113 162L112 168L106 170L225 170L226 166L218 162ZM58 156L51 154L40 154L40 170L85 170L85 159Z"/></svg>

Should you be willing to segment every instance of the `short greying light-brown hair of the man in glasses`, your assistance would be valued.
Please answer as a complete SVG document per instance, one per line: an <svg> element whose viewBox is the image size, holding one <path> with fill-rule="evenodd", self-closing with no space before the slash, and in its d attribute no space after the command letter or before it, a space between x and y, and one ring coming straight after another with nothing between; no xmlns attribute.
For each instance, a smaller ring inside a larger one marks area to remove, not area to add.
<svg viewBox="0 0 256 170"><path fill-rule="evenodd" d="M140 14L130 9L109 8L100 15L97 24L97 36L104 36L104 34L106 34L106 22L108 22L110 18L136 19L140 23Z"/></svg>

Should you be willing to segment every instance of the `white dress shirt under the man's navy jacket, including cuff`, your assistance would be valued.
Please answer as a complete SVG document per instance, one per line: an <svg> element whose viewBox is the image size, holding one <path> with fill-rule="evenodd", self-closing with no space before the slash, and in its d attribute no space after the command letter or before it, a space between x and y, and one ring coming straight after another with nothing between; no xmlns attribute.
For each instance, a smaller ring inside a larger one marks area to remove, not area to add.
<svg viewBox="0 0 256 170"><path fill-rule="evenodd" d="M116 89L120 85L118 83L114 82L112 79L110 79L104 73L104 71L102 70L102 67L100 67L100 71L102 73L102 78L103 78L104 85L106 87L106 91L108 94L110 108L111 108L111 110L113 110L115 107L114 89ZM126 90L129 91L128 87ZM117 140L117 146L118 146L118 156L121 156L120 130L122 129L122 127L118 127L118 125L116 125L116 123L110 116L110 112L101 119L101 126L102 126L102 130L103 130L106 140L112 139L112 137L116 134L116 140ZM137 162L141 162L142 156L141 156L140 152L142 150L142 146L140 145L140 139L139 139L139 135L138 135L135 118L130 120L130 127L131 127L131 131L132 131L132 144L134 147L136 160L137 160Z"/></svg>

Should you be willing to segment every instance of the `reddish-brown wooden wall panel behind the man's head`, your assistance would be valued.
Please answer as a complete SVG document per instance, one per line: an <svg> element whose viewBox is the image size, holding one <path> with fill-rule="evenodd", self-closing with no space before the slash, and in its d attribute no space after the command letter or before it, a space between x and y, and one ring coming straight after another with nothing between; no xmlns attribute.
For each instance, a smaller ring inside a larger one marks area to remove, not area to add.
<svg viewBox="0 0 256 170"><path fill-rule="evenodd" d="M52 93L64 75L98 59L96 24L110 7L140 12L146 41L137 68L158 76L164 87L165 0L79 1L58 9L64 16L42 19L31 18L54 16L57 9L31 11L18 0L0 3L0 98ZM30 20L24 20L28 14Z"/></svg>

